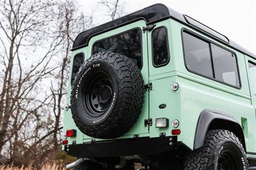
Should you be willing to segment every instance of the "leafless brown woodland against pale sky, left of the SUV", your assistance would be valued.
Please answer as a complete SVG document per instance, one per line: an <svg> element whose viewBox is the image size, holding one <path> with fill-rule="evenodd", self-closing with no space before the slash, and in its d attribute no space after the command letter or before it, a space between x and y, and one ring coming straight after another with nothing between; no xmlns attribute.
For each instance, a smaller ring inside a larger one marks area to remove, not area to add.
<svg viewBox="0 0 256 170"><path fill-rule="evenodd" d="M125 13L118 0L97 3L109 20ZM0 0L0 164L68 161L61 121L70 49L94 26L77 1Z"/></svg>

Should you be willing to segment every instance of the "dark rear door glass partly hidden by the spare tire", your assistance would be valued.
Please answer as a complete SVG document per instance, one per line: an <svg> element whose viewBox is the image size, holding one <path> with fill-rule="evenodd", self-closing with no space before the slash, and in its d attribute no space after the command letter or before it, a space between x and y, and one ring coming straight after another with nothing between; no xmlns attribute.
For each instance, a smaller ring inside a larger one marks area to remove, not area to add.
<svg viewBox="0 0 256 170"><path fill-rule="evenodd" d="M125 55L131 58L141 68L141 29L132 29L94 43L92 53L105 51Z"/></svg>

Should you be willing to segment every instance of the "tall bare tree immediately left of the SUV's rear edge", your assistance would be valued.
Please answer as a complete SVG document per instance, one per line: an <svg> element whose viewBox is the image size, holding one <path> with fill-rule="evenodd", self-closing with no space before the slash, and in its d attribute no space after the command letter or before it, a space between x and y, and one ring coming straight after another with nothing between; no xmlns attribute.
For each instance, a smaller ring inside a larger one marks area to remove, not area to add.
<svg viewBox="0 0 256 170"><path fill-rule="evenodd" d="M58 12L55 14L58 21L56 34L61 38L61 45L58 50L58 60L60 62L56 63L58 69L52 73L54 79L51 81L51 106L54 113L54 150L60 148L60 132L58 128L61 124L61 113L65 109L72 44L79 32L92 26L92 17L86 17L79 12L76 3L76 1L71 0L61 1L58 3Z"/></svg>

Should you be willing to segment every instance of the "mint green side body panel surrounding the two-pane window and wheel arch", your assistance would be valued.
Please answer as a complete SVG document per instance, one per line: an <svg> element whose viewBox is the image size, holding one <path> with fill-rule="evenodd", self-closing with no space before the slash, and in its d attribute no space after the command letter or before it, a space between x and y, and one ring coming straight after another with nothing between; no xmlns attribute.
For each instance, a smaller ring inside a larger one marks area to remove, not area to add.
<svg viewBox="0 0 256 170"><path fill-rule="evenodd" d="M182 48L182 28L214 41L219 45L228 48L237 55L239 73L241 78L241 89L235 89L223 83L219 83L198 74L194 74L186 69L184 64L184 53ZM255 111L251 105L248 78L244 62L244 54L225 46L214 39L211 39L200 32L186 27L175 20L171 23L173 61L177 71L176 81L179 83L180 93L180 134L178 140L183 141L189 148L193 149L196 125L199 115L205 108L222 110L230 113L237 122L241 124L241 119L246 118L248 129L255 127ZM254 129L255 130L255 129ZM247 151L255 152L255 131L248 131L245 136Z"/></svg>

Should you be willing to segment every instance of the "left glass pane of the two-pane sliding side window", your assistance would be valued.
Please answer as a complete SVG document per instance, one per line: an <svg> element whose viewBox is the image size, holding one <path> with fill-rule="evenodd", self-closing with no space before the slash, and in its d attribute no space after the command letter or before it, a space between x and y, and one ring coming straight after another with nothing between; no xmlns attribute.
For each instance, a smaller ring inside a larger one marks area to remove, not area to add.
<svg viewBox="0 0 256 170"><path fill-rule="evenodd" d="M213 78L210 45L183 32L185 62L189 71Z"/></svg>

